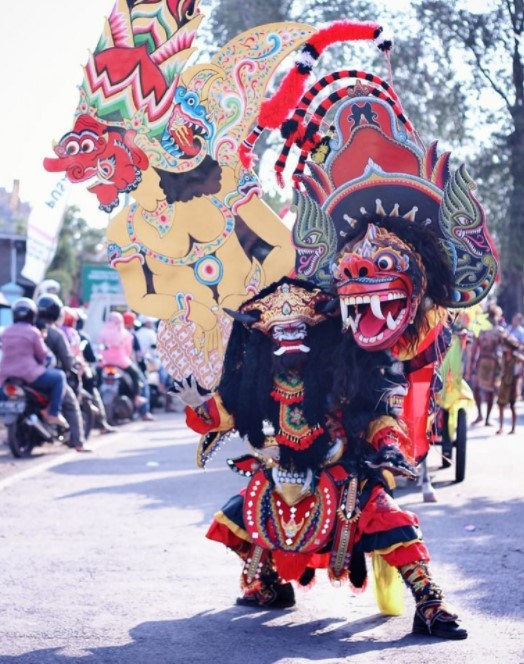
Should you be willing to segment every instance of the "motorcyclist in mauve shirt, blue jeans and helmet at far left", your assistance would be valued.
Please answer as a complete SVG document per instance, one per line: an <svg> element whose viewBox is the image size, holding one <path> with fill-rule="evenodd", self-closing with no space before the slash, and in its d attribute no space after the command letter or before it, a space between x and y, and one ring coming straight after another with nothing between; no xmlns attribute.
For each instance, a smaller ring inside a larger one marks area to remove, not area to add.
<svg viewBox="0 0 524 664"><path fill-rule="evenodd" d="M3 354L0 361L0 385L7 378L20 378L35 390L49 394L49 406L42 411L49 424L66 425L60 415L64 394L63 371L46 368L49 359L42 333L35 327L36 305L28 297L13 304L13 324L2 335Z"/></svg>

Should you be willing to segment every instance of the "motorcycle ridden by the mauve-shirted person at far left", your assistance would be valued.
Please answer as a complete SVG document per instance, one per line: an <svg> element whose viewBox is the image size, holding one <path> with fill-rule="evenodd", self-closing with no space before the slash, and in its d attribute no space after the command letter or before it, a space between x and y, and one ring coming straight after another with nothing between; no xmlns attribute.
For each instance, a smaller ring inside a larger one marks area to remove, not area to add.
<svg viewBox="0 0 524 664"><path fill-rule="evenodd" d="M48 397L22 380L8 378L0 395L0 417L7 429L7 443L14 457L27 458L44 443L67 444L69 430L48 424L42 410Z"/></svg>

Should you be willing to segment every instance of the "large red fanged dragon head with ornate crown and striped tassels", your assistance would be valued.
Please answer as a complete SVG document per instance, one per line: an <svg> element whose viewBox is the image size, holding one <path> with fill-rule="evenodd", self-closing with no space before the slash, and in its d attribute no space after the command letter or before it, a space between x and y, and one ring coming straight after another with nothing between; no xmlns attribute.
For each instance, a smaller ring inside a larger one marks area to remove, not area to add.
<svg viewBox="0 0 524 664"><path fill-rule="evenodd" d="M450 175L436 143L422 145L388 83L330 74L304 94L289 127L276 170L296 145L296 274L335 287L358 345L409 343L427 331L426 309L487 295L497 261L475 184L464 166Z"/></svg>

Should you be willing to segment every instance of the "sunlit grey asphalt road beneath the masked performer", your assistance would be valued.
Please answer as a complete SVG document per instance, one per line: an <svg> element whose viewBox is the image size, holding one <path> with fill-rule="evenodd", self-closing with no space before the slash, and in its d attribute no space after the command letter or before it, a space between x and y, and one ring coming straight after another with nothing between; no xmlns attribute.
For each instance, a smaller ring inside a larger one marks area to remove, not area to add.
<svg viewBox="0 0 524 664"><path fill-rule="evenodd" d="M522 405L522 404L521 404ZM420 517L434 576L469 630L466 641L410 634L323 574L291 611L237 607L240 567L205 539L243 480L208 470L183 416L161 414L90 440L14 460L0 445L0 662L7 664L524 663L524 408L516 435L471 428L466 480L430 455L437 503L415 486L399 502Z"/></svg>

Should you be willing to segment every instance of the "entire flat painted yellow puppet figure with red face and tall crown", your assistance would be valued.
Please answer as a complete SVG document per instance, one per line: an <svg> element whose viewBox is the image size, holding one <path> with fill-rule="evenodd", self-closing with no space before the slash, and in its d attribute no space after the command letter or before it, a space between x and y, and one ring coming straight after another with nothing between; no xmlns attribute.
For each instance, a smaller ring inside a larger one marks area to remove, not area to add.
<svg viewBox="0 0 524 664"><path fill-rule="evenodd" d="M108 257L130 307L162 319L175 378L211 387L236 309L288 274L295 250L238 148L271 76L315 28L261 26L187 67L199 0L117 0L84 69L73 130L45 167L85 182L110 222Z"/></svg>

